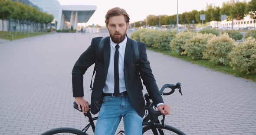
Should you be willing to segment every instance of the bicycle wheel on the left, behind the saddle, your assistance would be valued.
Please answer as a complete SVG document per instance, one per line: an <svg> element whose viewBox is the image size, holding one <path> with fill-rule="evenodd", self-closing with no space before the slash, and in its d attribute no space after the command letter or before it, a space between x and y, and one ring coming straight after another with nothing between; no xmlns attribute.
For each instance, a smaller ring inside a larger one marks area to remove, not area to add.
<svg viewBox="0 0 256 135"><path fill-rule="evenodd" d="M88 135L88 134L74 128L57 128L57 129L46 131L41 135Z"/></svg>

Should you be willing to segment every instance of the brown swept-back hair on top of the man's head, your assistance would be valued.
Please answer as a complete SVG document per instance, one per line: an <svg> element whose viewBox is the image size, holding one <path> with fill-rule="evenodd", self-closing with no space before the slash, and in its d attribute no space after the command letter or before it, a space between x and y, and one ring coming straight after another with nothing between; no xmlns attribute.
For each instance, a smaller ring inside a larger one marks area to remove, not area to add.
<svg viewBox="0 0 256 135"><path fill-rule="evenodd" d="M110 17L113 17L113 16L125 16L125 22L128 23L130 22L130 16L128 15L128 13L120 8L120 7L114 7L110 10L108 10L107 14L105 15L105 23L108 25L108 20Z"/></svg>

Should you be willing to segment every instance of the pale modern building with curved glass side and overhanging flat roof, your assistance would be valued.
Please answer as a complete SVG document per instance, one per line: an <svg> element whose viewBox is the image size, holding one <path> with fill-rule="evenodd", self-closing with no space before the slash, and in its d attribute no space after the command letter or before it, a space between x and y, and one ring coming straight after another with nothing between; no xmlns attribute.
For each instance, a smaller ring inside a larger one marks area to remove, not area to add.
<svg viewBox="0 0 256 135"><path fill-rule="evenodd" d="M87 23L97 10L92 5L61 5L58 0L30 1L54 16L56 29L77 29L77 23Z"/></svg>

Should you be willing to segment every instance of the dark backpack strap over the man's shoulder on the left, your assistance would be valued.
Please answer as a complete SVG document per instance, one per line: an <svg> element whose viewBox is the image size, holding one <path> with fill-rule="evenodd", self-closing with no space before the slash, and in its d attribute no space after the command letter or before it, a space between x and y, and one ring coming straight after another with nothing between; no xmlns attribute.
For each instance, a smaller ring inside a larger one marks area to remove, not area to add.
<svg viewBox="0 0 256 135"><path fill-rule="evenodd" d="M93 73L92 73L92 78L93 78L94 73L97 69L97 62L98 62L97 59L100 58L100 56L102 55L104 43L106 42L106 40L108 38L109 38L109 36L103 37L101 39L101 41L99 42L99 45L98 45L98 48L97 48L97 51L96 51L96 59L95 59L95 65L94 65ZM92 80L91 80L90 88L92 90Z"/></svg>

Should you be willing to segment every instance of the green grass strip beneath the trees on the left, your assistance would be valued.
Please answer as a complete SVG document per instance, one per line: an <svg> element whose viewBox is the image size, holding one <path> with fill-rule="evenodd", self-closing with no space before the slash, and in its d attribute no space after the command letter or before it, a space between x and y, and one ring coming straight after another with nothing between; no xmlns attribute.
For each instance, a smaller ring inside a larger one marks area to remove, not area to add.
<svg viewBox="0 0 256 135"><path fill-rule="evenodd" d="M0 31L0 39L6 39L6 40L12 40L12 36L9 36L9 32L3 32L4 36L2 35L2 31ZM32 32L29 33L29 37L33 37L33 36L37 36L37 35L44 35L44 34L49 34L49 32ZM20 32L17 32L17 35L15 35L15 32L11 32L11 35L13 35L13 40L15 39L23 39L23 38L27 38L28 34L27 32L25 32L25 35L22 34L20 35Z"/></svg>

